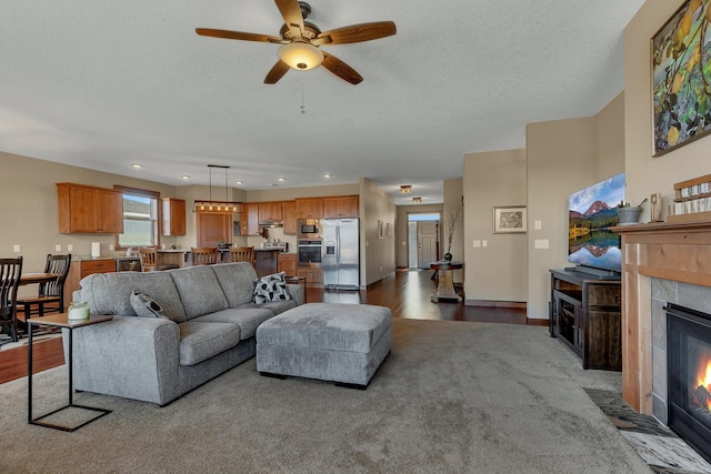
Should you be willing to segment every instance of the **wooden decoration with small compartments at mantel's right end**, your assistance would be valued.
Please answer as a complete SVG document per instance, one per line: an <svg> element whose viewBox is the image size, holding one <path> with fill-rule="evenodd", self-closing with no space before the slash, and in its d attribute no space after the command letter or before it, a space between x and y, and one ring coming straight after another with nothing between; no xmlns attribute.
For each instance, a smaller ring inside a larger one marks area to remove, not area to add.
<svg viewBox="0 0 711 474"><path fill-rule="evenodd" d="M674 202L669 222L711 222L711 174L674 184Z"/></svg>

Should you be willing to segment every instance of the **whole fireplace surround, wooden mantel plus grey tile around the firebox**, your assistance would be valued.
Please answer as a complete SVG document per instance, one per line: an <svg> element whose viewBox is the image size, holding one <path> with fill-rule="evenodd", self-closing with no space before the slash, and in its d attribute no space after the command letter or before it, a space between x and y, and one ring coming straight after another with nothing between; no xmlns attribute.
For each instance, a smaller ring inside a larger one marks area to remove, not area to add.
<svg viewBox="0 0 711 474"><path fill-rule="evenodd" d="M711 313L711 223L649 223L622 235L622 396L667 420L667 314L677 303Z"/></svg>

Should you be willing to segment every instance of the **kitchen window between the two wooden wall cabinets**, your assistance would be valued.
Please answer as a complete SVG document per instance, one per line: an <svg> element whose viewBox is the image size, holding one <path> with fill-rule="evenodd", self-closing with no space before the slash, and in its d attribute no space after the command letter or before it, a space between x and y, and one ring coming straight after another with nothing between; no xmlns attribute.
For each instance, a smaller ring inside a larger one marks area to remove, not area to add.
<svg viewBox="0 0 711 474"><path fill-rule="evenodd" d="M123 192L123 233L117 248L158 246L158 198L153 191L113 186Z"/></svg>

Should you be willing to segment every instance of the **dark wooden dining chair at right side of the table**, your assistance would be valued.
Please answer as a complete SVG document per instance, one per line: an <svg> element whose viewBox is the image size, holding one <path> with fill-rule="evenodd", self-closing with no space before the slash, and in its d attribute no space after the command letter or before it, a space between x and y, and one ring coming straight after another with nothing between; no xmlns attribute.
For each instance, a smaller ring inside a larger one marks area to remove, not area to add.
<svg viewBox="0 0 711 474"><path fill-rule="evenodd" d="M47 254L44 273L57 274L57 279L39 284L37 296L18 300L18 307L22 307L22 321L32 316L43 316L49 313L64 312L64 281L71 266L71 253L67 255Z"/></svg>

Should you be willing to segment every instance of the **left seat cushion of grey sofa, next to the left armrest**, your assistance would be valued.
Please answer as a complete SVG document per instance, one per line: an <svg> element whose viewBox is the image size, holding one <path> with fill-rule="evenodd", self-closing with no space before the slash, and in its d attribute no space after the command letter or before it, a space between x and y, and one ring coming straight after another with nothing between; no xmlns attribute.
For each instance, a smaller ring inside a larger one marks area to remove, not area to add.
<svg viewBox="0 0 711 474"><path fill-rule="evenodd" d="M240 342L240 326L230 323L186 321L180 329L180 365L194 365Z"/></svg>

